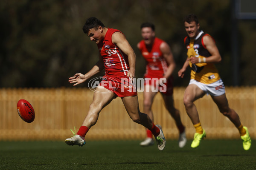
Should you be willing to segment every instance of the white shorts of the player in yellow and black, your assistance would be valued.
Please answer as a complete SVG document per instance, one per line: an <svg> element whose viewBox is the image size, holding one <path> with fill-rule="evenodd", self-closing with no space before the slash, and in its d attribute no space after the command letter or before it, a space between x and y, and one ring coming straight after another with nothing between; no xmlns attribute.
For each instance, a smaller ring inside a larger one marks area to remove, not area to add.
<svg viewBox="0 0 256 170"><path fill-rule="evenodd" d="M189 85L191 84L197 85L207 95L209 94L211 96L221 96L222 94L226 93L222 79L219 79L218 81L213 82L211 84L204 84L196 81L195 79L190 79Z"/></svg>

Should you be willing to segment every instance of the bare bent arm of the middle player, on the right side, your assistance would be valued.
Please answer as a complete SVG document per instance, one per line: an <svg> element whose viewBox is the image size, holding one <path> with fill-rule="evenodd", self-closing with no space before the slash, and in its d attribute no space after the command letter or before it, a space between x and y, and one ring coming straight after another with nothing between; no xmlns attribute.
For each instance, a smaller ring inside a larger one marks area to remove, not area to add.
<svg viewBox="0 0 256 170"><path fill-rule="evenodd" d="M168 79L172 75L176 64L172 55L171 48L166 42L162 42L162 44L160 45L160 50L162 51L163 57L166 59L166 62L168 64L166 74L164 75L164 78Z"/></svg>

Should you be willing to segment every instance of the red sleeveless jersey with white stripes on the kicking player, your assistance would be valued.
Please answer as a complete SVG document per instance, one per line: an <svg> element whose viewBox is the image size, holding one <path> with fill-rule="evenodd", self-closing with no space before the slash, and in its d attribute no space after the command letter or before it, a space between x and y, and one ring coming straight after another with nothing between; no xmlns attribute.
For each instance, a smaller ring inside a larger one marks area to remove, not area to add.
<svg viewBox="0 0 256 170"><path fill-rule="evenodd" d="M127 75L130 70L128 56L112 42L111 37L114 32L121 31L108 28L104 39L98 44L99 52L104 61L105 76L107 77L121 77Z"/></svg>

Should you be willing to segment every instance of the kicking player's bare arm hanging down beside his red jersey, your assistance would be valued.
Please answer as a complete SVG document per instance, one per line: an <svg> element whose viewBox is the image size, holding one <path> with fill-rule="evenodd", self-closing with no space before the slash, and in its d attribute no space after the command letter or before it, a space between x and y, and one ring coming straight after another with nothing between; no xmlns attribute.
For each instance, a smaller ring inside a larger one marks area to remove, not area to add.
<svg viewBox="0 0 256 170"><path fill-rule="evenodd" d="M126 40L125 36L120 32L113 33L112 42L116 44L128 56L130 70L127 76L130 77L131 80L133 80L135 77L135 65L136 65L136 55L134 53L134 50L131 48L131 45Z"/></svg>

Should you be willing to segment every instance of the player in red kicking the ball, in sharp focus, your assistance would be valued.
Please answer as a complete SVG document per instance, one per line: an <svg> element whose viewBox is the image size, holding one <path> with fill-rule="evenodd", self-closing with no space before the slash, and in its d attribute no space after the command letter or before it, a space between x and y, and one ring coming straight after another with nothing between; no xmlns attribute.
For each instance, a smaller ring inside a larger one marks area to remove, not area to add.
<svg viewBox="0 0 256 170"><path fill-rule="evenodd" d="M96 42L99 49L99 61L86 74L77 73L74 77L70 77L69 82L74 83L74 86L78 85L104 68L105 76L96 88L93 102L90 104L79 131L65 142L69 145L83 146L84 137L90 127L96 124L100 111L119 96L131 119L148 128L155 136L158 149L163 150L166 139L161 126L154 125L147 114L140 112L137 91L133 84L136 55L124 34L119 30L106 28L95 17L87 19L83 31L91 41Z"/></svg>

